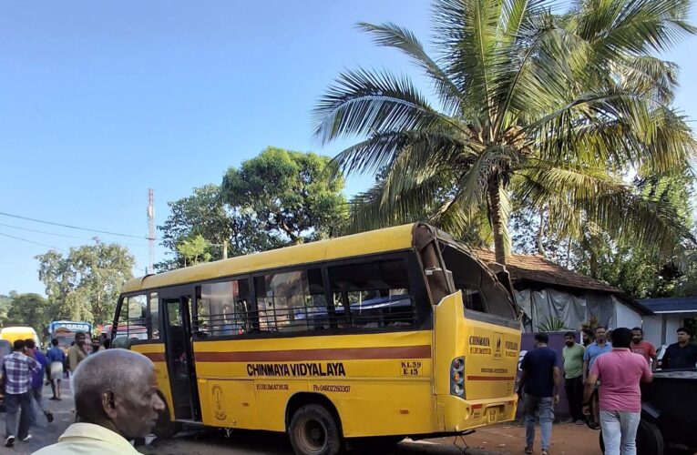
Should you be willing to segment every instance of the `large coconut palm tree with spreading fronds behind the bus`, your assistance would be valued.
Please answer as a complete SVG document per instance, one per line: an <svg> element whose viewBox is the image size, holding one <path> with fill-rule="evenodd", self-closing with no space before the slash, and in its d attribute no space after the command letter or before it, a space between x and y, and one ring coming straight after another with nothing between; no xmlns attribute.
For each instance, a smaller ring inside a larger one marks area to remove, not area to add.
<svg viewBox="0 0 697 455"><path fill-rule="evenodd" d="M662 52L697 31L687 0L579 0L553 15L536 0L436 0L437 56L394 24L358 25L430 79L434 105L406 76L345 71L313 118L326 144L364 137L335 159L381 172L356 197L356 230L428 218L473 226L505 264L511 199L544 209L569 235L589 226L661 250L687 236L671 207L629 177L682 172L695 157L671 107L676 66Z"/></svg>

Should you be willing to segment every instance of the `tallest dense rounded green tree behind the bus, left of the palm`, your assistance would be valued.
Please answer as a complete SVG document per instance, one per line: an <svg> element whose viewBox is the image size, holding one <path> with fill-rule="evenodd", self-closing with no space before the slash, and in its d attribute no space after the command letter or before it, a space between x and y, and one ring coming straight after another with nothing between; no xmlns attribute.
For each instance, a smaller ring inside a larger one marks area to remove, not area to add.
<svg viewBox="0 0 697 455"><path fill-rule="evenodd" d="M329 172L330 158L268 147L231 167L223 177L224 200L248 214L279 244L338 235L346 217L343 178Z"/></svg>

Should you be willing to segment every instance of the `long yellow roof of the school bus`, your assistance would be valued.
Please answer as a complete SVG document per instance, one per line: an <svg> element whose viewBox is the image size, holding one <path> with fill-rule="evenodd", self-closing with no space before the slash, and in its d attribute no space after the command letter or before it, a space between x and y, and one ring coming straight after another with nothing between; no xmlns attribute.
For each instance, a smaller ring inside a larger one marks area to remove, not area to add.
<svg viewBox="0 0 697 455"><path fill-rule="evenodd" d="M236 258L207 262L198 266L178 268L157 275L133 278L122 292L162 288L193 281L228 277L268 268L282 268L322 260L350 258L386 251L411 248L415 223L387 227L351 236L330 238L292 247L272 249Z"/></svg>

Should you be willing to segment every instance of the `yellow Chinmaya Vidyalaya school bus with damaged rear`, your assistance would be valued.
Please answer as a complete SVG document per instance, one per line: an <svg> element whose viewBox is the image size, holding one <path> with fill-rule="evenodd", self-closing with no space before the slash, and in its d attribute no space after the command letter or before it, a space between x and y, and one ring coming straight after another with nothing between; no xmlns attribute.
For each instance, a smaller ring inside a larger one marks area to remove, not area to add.
<svg viewBox="0 0 697 455"><path fill-rule="evenodd" d="M132 279L113 345L155 363L160 436L286 431L298 454L333 454L461 434L516 413L505 274L434 227L385 228Z"/></svg>

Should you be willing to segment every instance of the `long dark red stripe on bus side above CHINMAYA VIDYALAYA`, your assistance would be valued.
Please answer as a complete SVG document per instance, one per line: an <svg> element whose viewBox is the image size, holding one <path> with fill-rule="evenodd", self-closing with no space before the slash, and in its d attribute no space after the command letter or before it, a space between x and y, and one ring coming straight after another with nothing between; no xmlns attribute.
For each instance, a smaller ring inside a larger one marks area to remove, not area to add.
<svg viewBox="0 0 697 455"><path fill-rule="evenodd" d="M196 352L197 362L283 362L303 360L427 359L431 347L295 349L237 352Z"/></svg>

